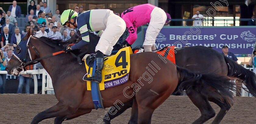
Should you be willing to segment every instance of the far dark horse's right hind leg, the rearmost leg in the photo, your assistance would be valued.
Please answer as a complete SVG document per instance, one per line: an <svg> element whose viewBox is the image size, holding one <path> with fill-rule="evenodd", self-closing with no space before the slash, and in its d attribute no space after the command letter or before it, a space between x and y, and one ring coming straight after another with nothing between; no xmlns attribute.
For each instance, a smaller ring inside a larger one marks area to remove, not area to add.
<svg viewBox="0 0 256 124"><path fill-rule="evenodd" d="M221 120L223 119L223 117L226 115L226 113L228 112L228 110L231 108L231 106L229 106L229 104L227 103L227 101L220 101L214 98L208 98L209 101L217 104L220 107L220 111L218 113L218 115L215 117L215 119L213 120L212 124L219 124L221 122Z"/></svg>

